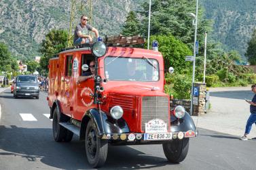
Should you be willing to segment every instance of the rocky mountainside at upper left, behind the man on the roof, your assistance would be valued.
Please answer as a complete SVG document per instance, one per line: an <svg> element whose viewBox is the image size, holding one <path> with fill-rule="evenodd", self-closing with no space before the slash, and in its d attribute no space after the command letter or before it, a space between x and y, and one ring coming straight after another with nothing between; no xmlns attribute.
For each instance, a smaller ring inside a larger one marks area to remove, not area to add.
<svg viewBox="0 0 256 170"><path fill-rule="evenodd" d="M88 2L88 1L87 1ZM100 35L116 35L130 10L138 7L135 0L93 0L93 24ZM77 0L77 9L81 1ZM84 12L89 14L88 3ZM69 30L71 0L1 0L0 41L7 43L19 59L40 56L39 44L53 28Z"/></svg>

